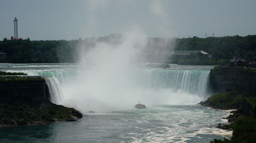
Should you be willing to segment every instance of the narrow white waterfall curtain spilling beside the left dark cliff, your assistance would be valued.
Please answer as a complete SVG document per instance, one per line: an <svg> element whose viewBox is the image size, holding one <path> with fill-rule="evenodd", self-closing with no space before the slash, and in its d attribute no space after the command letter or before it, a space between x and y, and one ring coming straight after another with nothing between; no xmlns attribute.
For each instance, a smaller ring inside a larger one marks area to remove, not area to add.
<svg viewBox="0 0 256 143"><path fill-rule="evenodd" d="M63 98L63 92L59 80L52 76L42 76L49 88L49 99L52 103L59 104Z"/></svg>

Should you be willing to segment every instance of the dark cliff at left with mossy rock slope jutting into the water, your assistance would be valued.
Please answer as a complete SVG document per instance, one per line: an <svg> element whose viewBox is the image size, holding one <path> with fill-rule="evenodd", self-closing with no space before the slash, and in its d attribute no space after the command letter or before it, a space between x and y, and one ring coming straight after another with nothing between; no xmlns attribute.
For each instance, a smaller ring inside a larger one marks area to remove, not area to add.
<svg viewBox="0 0 256 143"><path fill-rule="evenodd" d="M41 77L0 77L0 127L76 121L82 114L46 98Z"/></svg>

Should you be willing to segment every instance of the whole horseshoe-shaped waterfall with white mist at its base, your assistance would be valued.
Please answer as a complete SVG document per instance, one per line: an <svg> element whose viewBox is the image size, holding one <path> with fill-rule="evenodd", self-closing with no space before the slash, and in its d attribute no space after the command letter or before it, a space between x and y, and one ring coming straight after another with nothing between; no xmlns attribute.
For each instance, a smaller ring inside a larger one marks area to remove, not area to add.
<svg viewBox="0 0 256 143"><path fill-rule="evenodd" d="M192 66L191 70L187 66L171 66L171 69L145 69L137 65L135 68L15 65L6 67L5 71L46 75L50 100L81 110L93 106L130 107L139 100L147 105L195 104L207 98L209 69L212 67Z"/></svg>

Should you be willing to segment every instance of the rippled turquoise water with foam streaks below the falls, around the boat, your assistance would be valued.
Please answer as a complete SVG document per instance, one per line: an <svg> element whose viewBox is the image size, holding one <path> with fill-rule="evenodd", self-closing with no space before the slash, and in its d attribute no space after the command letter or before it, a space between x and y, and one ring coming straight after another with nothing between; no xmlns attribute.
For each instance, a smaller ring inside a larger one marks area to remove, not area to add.
<svg viewBox="0 0 256 143"><path fill-rule="evenodd" d="M220 130L208 127L224 122L221 118L227 115L200 105L131 107L90 114L77 122L0 128L0 142L206 143L223 139Z"/></svg>

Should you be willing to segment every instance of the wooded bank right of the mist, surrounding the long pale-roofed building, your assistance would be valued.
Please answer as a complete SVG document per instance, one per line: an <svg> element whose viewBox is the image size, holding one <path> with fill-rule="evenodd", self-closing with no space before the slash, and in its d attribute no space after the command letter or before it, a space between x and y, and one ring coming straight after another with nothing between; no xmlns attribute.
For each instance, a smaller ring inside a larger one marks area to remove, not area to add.
<svg viewBox="0 0 256 143"><path fill-rule="evenodd" d="M183 65L228 65L230 59L241 55L242 58L251 59L256 56L256 35L224 36L208 38L176 39L174 50L202 50L211 55L211 58L201 53L191 53L182 59L172 56L176 64ZM201 55L200 55L201 54Z"/></svg>

